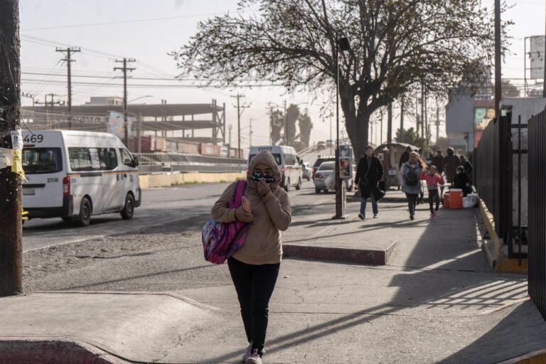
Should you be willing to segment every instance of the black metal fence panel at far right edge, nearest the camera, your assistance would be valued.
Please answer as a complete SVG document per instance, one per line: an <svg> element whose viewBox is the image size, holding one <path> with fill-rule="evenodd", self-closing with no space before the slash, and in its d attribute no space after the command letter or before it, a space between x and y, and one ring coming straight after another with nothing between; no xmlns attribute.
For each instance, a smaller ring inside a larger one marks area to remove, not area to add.
<svg viewBox="0 0 546 364"><path fill-rule="evenodd" d="M529 119L528 292L546 319L546 111Z"/></svg>

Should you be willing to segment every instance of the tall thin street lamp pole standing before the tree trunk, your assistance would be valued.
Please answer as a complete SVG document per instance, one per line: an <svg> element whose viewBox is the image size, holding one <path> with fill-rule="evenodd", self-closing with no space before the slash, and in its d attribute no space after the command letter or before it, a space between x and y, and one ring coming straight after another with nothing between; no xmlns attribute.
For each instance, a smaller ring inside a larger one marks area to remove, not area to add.
<svg viewBox="0 0 546 364"><path fill-rule="evenodd" d="M346 37L338 37L336 33L336 215L333 219L345 219L345 183L341 180L341 166L339 163L339 52L350 50L350 43Z"/></svg>

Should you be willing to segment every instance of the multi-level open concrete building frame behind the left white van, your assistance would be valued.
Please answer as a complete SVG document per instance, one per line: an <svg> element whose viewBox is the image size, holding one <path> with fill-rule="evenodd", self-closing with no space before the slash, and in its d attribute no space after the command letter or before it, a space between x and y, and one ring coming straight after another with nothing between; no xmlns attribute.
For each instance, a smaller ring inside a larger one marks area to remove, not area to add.
<svg viewBox="0 0 546 364"><path fill-rule="evenodd" d="M225 146L225 104L129 104L127 124L119 97L92 97L86 105L23 107L33 130L73 129L109 132L124 139L128 128L129 149L136 153L170 152L231 156Z"/></svg>

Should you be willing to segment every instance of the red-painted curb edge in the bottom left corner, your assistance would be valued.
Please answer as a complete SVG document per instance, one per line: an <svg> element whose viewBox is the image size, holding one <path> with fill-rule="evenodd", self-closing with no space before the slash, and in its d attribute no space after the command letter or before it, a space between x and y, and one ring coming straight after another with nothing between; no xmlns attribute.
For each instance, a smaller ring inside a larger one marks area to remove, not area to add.
<svg viewBox="0 0 546 364"><path fill-rule="evenodd" d="M0 337L0 364L127 364L89 343L70 338Z"/></svg>

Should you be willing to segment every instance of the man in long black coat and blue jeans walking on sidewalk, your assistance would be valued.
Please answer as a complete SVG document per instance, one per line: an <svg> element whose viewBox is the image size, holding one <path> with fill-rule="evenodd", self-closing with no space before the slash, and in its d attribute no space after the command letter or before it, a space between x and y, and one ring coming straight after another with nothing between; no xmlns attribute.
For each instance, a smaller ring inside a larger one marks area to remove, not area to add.
<svg viewBox="0 0 546 364"><path fill-rule="evenodd" d="M364 220L366 217L366 203L368 198L372 200L373 218L378 217L378 201L385 195L379 188L379 181L383 176L383 166L378 157L373 153L371 146L366 146L365 156L360 158L356 169L355 184L360 189L360 213L358 217Z"/></svg>

